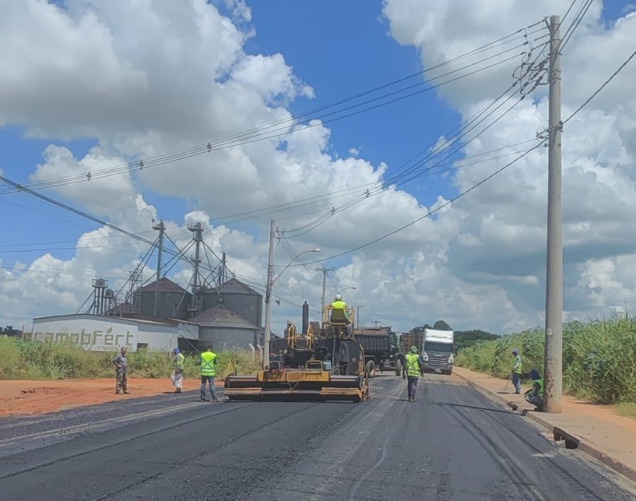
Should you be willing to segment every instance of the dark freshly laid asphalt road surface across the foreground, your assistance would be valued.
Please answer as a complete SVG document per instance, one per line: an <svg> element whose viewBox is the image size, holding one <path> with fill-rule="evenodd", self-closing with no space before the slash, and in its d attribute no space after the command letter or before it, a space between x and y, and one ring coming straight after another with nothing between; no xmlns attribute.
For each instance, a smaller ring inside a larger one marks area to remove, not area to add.
<svg viewBox="0 0 636 501"><path fill-rule="evenodd" d="M455 376L364 403L122 400L0 420L1 500L635 500Z"/></svg>

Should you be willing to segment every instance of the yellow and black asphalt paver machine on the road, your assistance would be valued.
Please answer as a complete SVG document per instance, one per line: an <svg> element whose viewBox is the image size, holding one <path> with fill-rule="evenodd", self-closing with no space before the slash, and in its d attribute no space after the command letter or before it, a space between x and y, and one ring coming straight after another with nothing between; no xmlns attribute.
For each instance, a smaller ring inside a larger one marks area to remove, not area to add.
<svg viewBox="0 0 636 501"><path fill-rule="evenodd" d="M301 334L290 328L284 338L272 339L263 370L226 377L228 400L366 401L369 377L362 344L352 336L353 320L352 308L325 306L322 322L308 322L305 302Z"/></svg>

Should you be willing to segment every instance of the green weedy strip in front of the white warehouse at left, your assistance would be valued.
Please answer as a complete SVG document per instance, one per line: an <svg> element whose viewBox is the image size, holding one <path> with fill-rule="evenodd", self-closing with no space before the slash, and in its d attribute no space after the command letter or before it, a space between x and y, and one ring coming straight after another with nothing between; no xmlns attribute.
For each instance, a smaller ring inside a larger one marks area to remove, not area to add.
<svg viewBox="0 0 636 501"><path fill-rule="evenodd" d="M216 377L233 372L250 374L258 369L248 350L222 351ZM0 379L68 379L114 377L115 353L96 353L71 344L33 343L19 338L0 338ZM129 352L129 377L168 377L172 357L168 353ZM197 355L185 357L185 377L197 377Z"/></svg>

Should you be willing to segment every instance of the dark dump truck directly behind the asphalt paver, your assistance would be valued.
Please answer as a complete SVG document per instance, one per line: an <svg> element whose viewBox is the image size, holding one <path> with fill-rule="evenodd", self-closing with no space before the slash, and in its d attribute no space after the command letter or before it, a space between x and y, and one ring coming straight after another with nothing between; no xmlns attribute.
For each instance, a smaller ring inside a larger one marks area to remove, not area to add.
<svg viewBox="0 0 636 501"><path fill-rule="evenodd" d="M354 329L354 339L360 341L364 349L364 367L369 377L374 377L376 370L391 370L396 376L402 375L403 358L391 327Z"/></svg>

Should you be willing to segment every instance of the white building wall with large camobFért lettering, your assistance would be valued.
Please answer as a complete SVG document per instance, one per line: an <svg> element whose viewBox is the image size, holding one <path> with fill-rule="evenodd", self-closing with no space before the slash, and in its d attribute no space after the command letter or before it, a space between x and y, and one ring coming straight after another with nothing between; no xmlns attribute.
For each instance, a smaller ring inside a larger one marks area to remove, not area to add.
<svg viewBox="0 0 636 501"><path fill-rule="evenodd" d="M122 346L137 351L137 326L94 319L34 322L32 341L74 343L85 350L117 351Z"/></svg>

